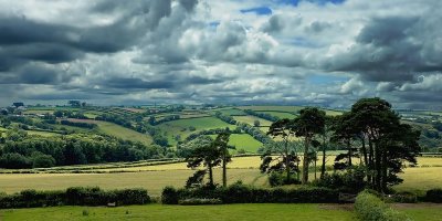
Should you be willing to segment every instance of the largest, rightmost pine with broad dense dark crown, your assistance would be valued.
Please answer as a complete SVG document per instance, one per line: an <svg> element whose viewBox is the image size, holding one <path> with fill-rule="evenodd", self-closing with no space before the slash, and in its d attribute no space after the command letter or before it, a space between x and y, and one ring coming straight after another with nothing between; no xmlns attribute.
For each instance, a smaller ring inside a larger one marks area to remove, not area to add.
<svg viewBox="0 0 442 221"><path fill-rule="evenodd" d="M351 106L352 126L359 130L362 144L367 179L378 191L387 191L388 186L399 183L396 176L401 171L402 160L415 162L420 151L420 131L400 123L400 117L391 109L391 104L379 97L361 98Z"/></svg>

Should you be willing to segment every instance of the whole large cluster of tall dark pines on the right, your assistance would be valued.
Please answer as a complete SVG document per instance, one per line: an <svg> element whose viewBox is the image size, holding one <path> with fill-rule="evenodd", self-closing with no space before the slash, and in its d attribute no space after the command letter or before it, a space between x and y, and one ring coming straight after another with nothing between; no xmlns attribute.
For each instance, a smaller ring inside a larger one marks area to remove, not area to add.
<svg viewBox="0 0 442 221"><path fill-rule="evenodd" d="M307 107L299 112L297 118L275 122L267 134L281 137L283 141L271 143L263 155L262 171L284 170L288 180L292 173L299 170L296 146L301 145L304 152L302 183L308 182L309 164L316 162L319 150L323 150L320 173L325 176L325 150L333 143L348 150L337 157L336 160L344 161L337 161L338 168L351 170L351 158L358 157L366 168L368 185L382 192L402 181L397 176L401 172L402 162L415 164L420 151L420 131L402 124L391 105L378 97L359 99L350 112L336 117L326 117L324 110ZM301 137L302 143L293 145L291 140L295 137ZM272 158L272 154L278 154L278 157ZM277 162L270 164L273 160Z"/></svg>

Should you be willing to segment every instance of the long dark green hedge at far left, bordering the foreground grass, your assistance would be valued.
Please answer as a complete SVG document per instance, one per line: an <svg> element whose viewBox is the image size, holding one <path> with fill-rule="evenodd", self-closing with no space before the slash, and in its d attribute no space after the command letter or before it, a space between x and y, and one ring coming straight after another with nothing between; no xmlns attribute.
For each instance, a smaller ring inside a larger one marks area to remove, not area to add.
<svg viewBox="0 0 442 221"><path fill-rule="evenodd" d="M36 208L53 206L117 206L145 204L150 197L144 189L124 189L104 191L99 188L69 188L66 191L23 190L15 194L1 194L0 209Z"/></svg>

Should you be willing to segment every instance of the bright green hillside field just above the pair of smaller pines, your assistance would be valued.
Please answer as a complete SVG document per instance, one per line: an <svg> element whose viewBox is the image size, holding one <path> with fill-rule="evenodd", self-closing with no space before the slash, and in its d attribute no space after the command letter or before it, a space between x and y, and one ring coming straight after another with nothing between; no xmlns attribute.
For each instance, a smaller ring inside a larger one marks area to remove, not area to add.
<svg viewBox="0 0 442 221"><path fill-rule="evenodd" d="M230 125L221 119L215 117L200 117L200 118L190 118L190 119L177 119L172 122L162 123L158 126L161 131L166 131L166 136L169 140L169 144L175 145L177 140L173 139L175 136L180 135L181 139L185 139L192 133L201 131L203 129L215 129L215 128L225 128L234 129L235 125ZM191 131L189 128L194 127L194 131Z"/></svg>

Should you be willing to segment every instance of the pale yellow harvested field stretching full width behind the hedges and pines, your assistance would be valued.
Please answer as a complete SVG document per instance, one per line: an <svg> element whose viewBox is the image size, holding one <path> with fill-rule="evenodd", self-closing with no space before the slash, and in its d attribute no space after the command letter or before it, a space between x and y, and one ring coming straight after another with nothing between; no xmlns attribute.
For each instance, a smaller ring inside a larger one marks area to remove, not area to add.
<svg viewBox="0 0 442 221"><path fill-rule="evenodd" d="M327 165L332 165L328 160ZM244 183L266 187L265 175L259 170L260 157L233 158L229 164L229 182L242 180ZM404 182L397 186L400 191L415 191L422 193L424 190L440 187L442 183L442 158L419 158L421 165L433 165L438 167L406 168L400 177ZM24 189L53 190L65 189L73 186L99 186L104 189L122 189L130 187L146 188L152 196L159 196L166 186L182 187L187 178L193 172L186 167L185 162L116 168L97 169L99 171L114 171L112 173L2 173L0 175L0 191L8 193ZM118 171L126 172L118 172ZM313 178L313 173L311 175ZM218 182L221 180L221 170L214 170Z"/></svg>

